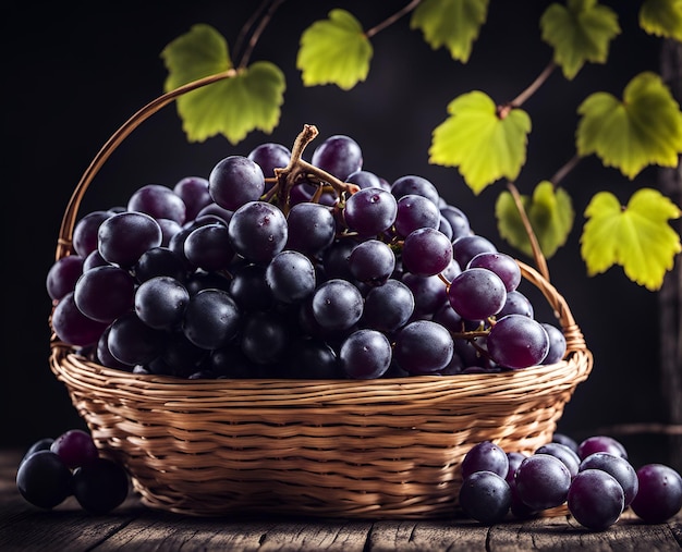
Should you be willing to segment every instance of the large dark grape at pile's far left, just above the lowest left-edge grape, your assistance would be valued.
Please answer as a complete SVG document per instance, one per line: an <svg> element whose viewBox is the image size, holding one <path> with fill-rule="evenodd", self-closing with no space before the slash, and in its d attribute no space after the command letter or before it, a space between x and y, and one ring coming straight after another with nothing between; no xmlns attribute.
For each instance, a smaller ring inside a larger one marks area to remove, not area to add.
<svg viewBox="0 0 682 552"><path fill-rule="evenodd" d="M98 322L113 322L133 308L135 280L127 270L112 265L83 273L74 290L76 306Z"/></svg>

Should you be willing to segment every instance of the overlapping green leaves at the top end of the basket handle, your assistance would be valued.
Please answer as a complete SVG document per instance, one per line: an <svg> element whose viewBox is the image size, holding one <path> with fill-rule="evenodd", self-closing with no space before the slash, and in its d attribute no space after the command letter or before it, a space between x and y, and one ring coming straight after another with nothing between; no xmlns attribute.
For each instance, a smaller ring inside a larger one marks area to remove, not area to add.
<svg viewBox="0 0 682 552"><path fill-rule="evenodd" d="M179 86L232 69L228 45L211 26L194 25L161 52L169 71L163 88ZM271 133L280 120L284 100L284 74L270 62L259 61L234 75L176 100L178 113L190 142L223 135L238 144L252 131Z"/></svg>

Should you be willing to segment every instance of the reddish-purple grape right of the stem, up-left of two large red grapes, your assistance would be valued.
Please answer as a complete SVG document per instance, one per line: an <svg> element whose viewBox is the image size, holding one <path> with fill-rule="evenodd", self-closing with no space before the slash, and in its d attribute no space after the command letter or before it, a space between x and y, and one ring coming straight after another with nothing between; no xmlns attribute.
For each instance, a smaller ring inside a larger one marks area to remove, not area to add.
<svg viewBox="0 0 682 552"><path fill-rule="evenodd" d="M405 237L402 260L404 268L413 274L435 275L452 262L452 244L442 232L421 228Z"/></svg>

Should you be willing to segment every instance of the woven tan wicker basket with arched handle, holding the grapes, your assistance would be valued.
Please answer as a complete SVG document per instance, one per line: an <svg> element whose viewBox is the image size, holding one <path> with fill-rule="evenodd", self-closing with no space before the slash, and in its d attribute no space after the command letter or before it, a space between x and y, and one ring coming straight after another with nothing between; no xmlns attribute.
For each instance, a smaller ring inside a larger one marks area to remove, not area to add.
<svg viewBox="0 0 682 552"><path fill-rule="evenodd" d="M109 154L183 91L141 110L98 154L64 213L57 258L70 254L78 205ZM531 453L548 442L592 369L564 298L520 266L567 338L557 364L370 381L184 380L106 368L53 336L50 366L102 454L127 468L151 507L202 516L451 517L468 449L490 440Z"/></svg>

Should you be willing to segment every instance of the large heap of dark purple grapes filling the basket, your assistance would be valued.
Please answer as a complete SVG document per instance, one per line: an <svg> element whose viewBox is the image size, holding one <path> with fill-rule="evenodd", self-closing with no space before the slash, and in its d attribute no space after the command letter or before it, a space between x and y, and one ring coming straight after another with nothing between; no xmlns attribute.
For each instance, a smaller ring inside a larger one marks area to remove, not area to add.
<svg viewBox="0 0 682 552"><path fill-rule="evenodd" d="M516 261L429 181L275 143L77 220L47 275L56 336L181 378L373 379L523 369L565 354Z"/></svg>

